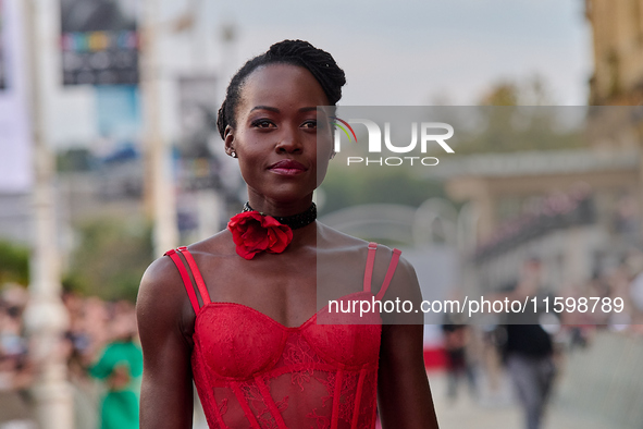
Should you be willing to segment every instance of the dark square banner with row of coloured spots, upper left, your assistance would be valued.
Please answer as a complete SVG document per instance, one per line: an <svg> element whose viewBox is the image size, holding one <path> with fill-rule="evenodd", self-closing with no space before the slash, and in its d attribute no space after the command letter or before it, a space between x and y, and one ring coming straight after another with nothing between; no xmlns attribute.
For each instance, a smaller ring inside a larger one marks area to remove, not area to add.
<svg viewBox="0 0 643 429"><path fill-rule="evenodd" d="M138 83L138 0L61 0L64 85Z"/></svg>

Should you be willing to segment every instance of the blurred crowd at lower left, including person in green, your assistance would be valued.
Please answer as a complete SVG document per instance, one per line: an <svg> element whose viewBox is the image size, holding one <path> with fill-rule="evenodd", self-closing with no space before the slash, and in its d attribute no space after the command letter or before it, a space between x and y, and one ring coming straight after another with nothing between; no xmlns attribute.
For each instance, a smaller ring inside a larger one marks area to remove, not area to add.
<svg viewBox="0 0 643 429"><path fill-rule="evenodd" d="M65 293L69 329L58 352L67 363L76 429L137 428L143 355L134 304ZM0 294L0 429L37 428L37 382L24 311L27 291L5 285Z"/></svg>

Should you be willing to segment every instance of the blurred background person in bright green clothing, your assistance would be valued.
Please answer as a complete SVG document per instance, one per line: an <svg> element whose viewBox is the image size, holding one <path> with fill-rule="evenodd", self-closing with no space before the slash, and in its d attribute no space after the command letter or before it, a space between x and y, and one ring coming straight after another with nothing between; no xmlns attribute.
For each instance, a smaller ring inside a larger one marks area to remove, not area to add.
<svg viewBox="0 0 643 429"><path fill-rule="evenodd" d="M135 429L139 420L140 376L143 353L136 342L136 316L134 306L119 302L113 307L110 341L97 361L89 367L89 375L106 383L100 407L101 429Z"/></svg>

